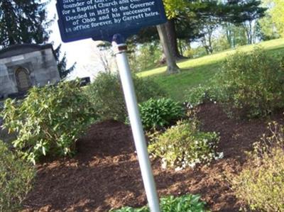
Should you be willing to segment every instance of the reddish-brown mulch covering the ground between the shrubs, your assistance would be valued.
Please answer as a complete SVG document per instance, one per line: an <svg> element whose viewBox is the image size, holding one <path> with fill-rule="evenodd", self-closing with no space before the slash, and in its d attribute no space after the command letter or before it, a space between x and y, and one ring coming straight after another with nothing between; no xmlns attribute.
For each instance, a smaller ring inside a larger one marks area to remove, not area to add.
<svg viewBox="0 0 284 212"><path fill-rule="evenodd" d="M236 121L215 104L205 104L198 113L203 130L221 135L219 151L224 159L209 167L180 172L162 170L152 162L160 196L201 194L212 211L239 211L239 202L224 173L237 173L245 162L244 151L264 132L268 121L283 123L279 113L271 120ZM141 181L131 129L116 121L92 125L77 142L77 155L38 165L33 191L24 201L24 211L109 211L121 206L143 206L146 196Z"/></svg>

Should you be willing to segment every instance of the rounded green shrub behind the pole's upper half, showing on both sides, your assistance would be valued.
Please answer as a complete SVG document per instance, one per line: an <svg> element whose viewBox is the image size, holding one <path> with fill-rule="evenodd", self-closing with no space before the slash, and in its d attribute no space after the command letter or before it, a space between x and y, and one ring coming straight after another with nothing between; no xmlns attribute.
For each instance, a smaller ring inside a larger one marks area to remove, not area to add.
<svg viewBox="0 0 284 212"><path fill-rule="evenodd" d="M147 101L151 97L164 96L164 91L151 79L138 78L133 75L138 102ZM127 109L121 87L119 74L99 73L95 81L87 89L93 107L102 119L125 121Z"/></svg>

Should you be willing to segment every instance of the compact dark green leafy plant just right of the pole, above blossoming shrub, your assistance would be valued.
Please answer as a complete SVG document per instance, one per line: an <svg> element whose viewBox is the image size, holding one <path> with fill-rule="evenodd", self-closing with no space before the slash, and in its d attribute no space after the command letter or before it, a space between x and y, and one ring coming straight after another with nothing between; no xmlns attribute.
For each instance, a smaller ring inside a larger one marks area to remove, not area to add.
<svg viewBox="0 0 284 212"><path fill-rule="evenodd" d="M185 116L185 110L172 99L149 99L139 104L144 128L162 128Z"/></svg>

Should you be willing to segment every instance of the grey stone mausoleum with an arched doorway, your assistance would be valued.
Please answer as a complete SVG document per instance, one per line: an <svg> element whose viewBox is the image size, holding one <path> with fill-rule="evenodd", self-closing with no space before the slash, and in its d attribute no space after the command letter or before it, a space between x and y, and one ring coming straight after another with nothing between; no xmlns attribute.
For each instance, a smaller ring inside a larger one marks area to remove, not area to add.
<svg viewBox="0 0 284 212"><path fill-rule="evenodd" d="M25 94L33 86L59 81L51 44L13 45L0 50L0 99Z"/></svg>

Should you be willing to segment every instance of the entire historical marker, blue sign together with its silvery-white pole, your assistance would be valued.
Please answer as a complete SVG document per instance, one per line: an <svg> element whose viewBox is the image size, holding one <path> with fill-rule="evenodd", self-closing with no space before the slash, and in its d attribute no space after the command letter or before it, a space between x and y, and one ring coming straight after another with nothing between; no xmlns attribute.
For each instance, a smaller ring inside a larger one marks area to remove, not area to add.
<svg viewBox="0 0 284 212"><path fill-rule="evenodd" d="M112 42L129 112L148 205L160 212L158 194L149 160L131 78L125 39L143 27L166 22L162 0L58 0L58 25L63 42L92 38Z"/></svg>

